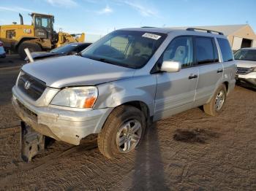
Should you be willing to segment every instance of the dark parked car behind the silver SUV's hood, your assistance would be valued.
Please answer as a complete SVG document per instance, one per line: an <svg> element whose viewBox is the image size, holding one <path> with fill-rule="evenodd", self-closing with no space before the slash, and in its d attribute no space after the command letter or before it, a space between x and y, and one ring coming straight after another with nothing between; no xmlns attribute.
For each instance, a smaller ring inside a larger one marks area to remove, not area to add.
<svg viewBox="0 0 256 191"><path fill-rule="evenodd" d="M89 42L74 42L70 44L65 44L61 47L57 47L56 49L50 50L50 52L31 52L31 56L34 59L34 61L38 61L50 57L75 55L76 53L81 52L90 45L91 43ZM29 58L26 57L25 61L29 63Z"/></svg>

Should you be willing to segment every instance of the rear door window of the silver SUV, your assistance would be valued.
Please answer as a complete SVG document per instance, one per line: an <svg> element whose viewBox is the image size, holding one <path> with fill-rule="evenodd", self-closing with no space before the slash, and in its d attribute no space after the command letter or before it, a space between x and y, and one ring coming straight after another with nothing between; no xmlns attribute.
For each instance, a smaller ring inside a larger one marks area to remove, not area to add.
<svg viewBox="0 0 256 191"><path fill-rule="evenodd" d="M214 39L197 37L195 44L197 64L215 63L219 61Z"/></svg>

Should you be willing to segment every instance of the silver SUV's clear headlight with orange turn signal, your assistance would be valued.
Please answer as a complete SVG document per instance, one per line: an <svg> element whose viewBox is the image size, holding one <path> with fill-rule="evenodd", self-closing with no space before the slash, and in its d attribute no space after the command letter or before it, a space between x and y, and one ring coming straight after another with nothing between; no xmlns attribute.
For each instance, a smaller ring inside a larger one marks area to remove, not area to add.
<svg viewBox="0 0 256 191"><path fill-rule="evenodd" d="M97 97L97 87L67 87L60 90L50 104L75 108L91 108L94 106Z"/></svg>

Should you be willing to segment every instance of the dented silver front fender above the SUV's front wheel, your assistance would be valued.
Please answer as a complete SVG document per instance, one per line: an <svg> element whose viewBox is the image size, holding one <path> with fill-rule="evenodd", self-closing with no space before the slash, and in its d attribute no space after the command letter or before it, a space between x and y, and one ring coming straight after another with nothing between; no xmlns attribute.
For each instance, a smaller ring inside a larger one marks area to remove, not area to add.
<svg viewBox="0 0 256 191"><path fill-rule="evenodd" d="M154 114L154 97L157 79L152 75L132 77L97 85L99 97L95 109L114 108L129 101L141 101L148 106L149 114Z"/></svg>

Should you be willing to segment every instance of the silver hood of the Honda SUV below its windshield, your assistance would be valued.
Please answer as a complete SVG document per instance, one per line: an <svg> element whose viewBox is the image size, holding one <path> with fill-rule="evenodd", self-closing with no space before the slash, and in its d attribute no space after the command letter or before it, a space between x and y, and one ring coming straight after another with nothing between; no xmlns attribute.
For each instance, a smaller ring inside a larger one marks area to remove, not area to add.
<svg viewBox="0 0 256 191"><path fill-rule="evenodd" d="M22 70L48 87L97 85L132 77L135 69L94 61L77 55L68 55L28 63Z"/></svg>

